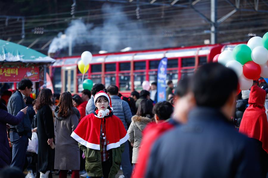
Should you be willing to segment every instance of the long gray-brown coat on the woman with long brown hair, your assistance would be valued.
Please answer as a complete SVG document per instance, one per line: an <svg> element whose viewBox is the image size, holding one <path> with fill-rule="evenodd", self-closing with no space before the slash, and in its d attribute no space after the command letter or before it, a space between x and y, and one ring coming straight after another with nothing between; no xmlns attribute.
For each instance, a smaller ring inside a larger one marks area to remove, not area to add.
<svg viewBox="0 0 268 178"><path fill-rule="evenodd" d="M79 170L80 150L78 143L71 137L71 133L78 125L77 109L68 117L59 117L59 108L55 108L56 143L54 169ZM78 112L79 113L79 112Z"/></svg>

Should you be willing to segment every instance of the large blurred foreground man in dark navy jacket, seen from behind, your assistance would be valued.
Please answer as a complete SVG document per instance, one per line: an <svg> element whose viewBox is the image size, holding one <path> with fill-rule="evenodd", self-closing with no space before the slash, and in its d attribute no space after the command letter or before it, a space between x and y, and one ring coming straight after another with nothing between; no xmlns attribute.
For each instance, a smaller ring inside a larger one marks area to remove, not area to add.
<svg viewBox="0 0 268 178"><path fill-rule="evenodd" d="M155 142L146 177L261 176L254 143L230 121L237 84L235 72L219 63L197 70L190 85L197 106L188 123Z"/></svg>

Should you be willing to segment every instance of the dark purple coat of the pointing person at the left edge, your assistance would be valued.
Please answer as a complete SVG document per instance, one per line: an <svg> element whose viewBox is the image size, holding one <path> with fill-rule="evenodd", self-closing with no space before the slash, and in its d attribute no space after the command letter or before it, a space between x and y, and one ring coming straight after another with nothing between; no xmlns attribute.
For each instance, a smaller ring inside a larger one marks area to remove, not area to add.
<svg viewBox="0 0 268 178"><path fill-rule="evenodd" d="M0 102L0 169L10 165L10 148L7 139L7 124L17 125L24 117L23 112L13 116L7 112L7 107Z"/></svg>

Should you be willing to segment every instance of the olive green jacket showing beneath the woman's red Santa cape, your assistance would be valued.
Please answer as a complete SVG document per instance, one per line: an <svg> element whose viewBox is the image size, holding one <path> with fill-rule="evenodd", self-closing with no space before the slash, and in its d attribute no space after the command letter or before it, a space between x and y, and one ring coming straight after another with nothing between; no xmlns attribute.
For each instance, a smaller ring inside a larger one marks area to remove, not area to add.
<svg viewBox="0 0 268 178"><path fill-rule="evenodd" d="M88 176L91 177L104 177L102 174L102 161L101 161L101 150L94 150L87 148L84 145L78 143L79 148L85 153L85 170L88 173ZM109 174L109 178L115 178L119 165L121 163L121 154L124 151L124 143L120 147L113 148L109 150L109 156L113 157L113 165ZM112 153L112 155L111 155Z"/></svg>

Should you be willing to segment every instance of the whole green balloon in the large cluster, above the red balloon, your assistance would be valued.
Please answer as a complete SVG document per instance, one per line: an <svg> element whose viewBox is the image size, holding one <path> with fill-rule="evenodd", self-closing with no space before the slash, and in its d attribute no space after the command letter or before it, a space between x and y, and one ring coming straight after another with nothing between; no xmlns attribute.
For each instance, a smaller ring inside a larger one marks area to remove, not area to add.
<svg viewBox="0 0 268 178"><path fill-rule="evenodd" d="M233 58L242 65L248 61L252 61L250 47L244 44L237 45L233 49Z"/></svg>

